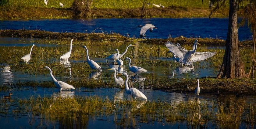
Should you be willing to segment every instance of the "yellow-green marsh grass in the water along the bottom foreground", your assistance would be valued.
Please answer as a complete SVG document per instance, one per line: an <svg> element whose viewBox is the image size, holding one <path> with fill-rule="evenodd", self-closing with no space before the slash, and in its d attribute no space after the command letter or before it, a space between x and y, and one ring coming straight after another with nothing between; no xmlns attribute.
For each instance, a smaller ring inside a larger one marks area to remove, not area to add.
<svg viewBox="0 0 256 129"><path fill-rule="evenodd" d="M203 100L188 100L180 103L165 101L114 101L97 96L90 97L31 97L19 100L25 112L41 115L49 121L63 119L79 120L88 117L114 116L115 124L127 126L137 122L177 122L185 121L189 126L206 126L208 122L225 128L239 126L240 123L255 123L255 104L214 102L209 105ZM4 113L4 111L3 111ZM87 119L85 119L87 120ZM236 124L234 124L236 123ZM69 124L72 124L69 123ZM68 123L67 123L68 125Z"/></svg>

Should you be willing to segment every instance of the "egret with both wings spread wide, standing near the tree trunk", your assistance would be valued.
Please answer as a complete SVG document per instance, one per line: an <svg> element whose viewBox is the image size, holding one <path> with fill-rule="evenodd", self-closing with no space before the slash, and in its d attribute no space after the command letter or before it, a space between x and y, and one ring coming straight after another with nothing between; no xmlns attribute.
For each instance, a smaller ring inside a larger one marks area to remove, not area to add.
<svg viewBox="0 0 256 129"><path fill-rule="evenodd" d="M176 45L172 42L166 42L166 47L169 49L169 52L174 53L176 56L178 56L180 59L182 59L182 63L186 65L193 65L193 62L201 61L204 59L208 59L216 52L196 52L197 49L197 39L194 42L194 50L188 51L187 49L181 47L180 45Z"/></svg>

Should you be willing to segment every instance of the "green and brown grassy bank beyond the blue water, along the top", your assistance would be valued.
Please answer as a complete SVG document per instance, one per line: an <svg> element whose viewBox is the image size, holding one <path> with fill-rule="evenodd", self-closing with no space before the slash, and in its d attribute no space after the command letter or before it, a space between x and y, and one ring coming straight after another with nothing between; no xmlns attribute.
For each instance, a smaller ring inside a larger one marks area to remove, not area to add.
<svg viewBox="0 0 256 129"><path fill-rule="evenodd" d="M148 1L151 5L145 9L144 17L208 17L210 9L208 2L201 0L190 1ZM49 1L45 5L43 1L16 1L9 0L9 4L0 7L0 20L9 19L71 19L75 16L70 9L73 0L62 0L65 3L63 8L59 7L59 2ZM155 8L152 3L162 4L165 8ZM93 1L91 11L87 18L136 18L141 15L143 1L118 1L108 2L106 0ZM45 13L47 12L47 13ZM222 8L214 13L212 17L227 17L228 8Z"/></svg>

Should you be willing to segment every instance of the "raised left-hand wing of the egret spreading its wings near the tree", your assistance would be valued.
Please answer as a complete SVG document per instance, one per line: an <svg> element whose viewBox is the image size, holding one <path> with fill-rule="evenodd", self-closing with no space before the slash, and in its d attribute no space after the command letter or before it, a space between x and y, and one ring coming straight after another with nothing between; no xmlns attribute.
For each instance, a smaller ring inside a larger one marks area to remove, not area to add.
<svg viewBox="0 0 256 129"><path fill-rule="evenodd" d="M174 53L179 58L184 58L186 53L188 53L187 49L169 41L166 42L165 46L169 49L169 52Z"/></svg>

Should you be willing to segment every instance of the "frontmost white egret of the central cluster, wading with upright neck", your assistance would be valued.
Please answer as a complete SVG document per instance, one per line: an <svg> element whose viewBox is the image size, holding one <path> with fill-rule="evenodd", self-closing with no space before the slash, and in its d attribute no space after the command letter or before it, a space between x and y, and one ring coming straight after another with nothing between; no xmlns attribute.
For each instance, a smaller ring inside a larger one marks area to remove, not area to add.
<svg viewBox="0 0 256 129"><path fill-rule="evenodd" d="M132 88L128 87L129 76L127 75L127 73L123 73L123 74L126 76L125 92L127 94L131 94L131 96L135 99L135 101L137 100L137 98L143 98L144 100L147 100L148 98L142 92L140 92L140 90L133 87Z"/></svg>

